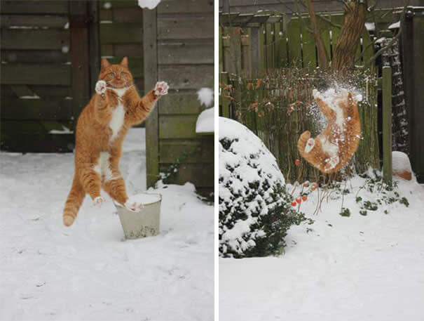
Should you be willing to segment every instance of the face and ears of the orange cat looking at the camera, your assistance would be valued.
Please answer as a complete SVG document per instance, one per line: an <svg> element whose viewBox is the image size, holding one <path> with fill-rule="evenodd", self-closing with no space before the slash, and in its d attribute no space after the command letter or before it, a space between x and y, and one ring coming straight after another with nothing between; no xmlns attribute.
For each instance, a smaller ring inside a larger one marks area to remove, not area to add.
<svg viewBox="0 0 424 321"><path fill-rule="evenodd" d="M103 58L99 80L106 81L108 87L123 88L131 86L132 74L128 70L128 58L124 57L118 65L111 65L106 58Z"/></svg>

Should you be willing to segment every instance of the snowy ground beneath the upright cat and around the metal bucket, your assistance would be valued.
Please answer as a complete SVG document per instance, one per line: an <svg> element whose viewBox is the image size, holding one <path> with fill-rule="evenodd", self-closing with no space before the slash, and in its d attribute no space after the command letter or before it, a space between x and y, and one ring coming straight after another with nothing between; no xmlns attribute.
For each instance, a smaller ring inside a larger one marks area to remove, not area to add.
<svg viewBox="0 0 424 321"><path fill-rule="evenodd" d="M146 186L144 129L124 149L132 195ZM0 166L0 320L213 320L214 211L193 185L159 188L160 235L125 241L109 197L86 197L64 228L73 154L2 152Z"/></svg>

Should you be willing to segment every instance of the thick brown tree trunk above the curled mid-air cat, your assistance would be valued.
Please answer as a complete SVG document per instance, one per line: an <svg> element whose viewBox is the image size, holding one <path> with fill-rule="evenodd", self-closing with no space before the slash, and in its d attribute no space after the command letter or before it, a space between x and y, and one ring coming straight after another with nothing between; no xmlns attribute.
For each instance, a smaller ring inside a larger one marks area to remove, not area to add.
<svg viewBox="0 0 424 321"><path fill-rule="evenodd" d="M360 0L345 3L345 21L341 27L331 67L340 72L346 72L355 65L355 54L364 31L367 1Z"/></svg>

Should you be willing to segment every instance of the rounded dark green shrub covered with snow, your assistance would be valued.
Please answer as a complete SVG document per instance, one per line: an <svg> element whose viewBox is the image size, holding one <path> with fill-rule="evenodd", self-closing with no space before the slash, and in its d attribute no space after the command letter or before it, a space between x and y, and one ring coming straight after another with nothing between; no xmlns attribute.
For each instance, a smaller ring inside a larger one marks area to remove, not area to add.
<svg viewBox="0 0 424 321"><path fill-rule="evenodd" d="M303 215L291 207L275 157L244 125L219 118L219 253L280 254Z"/></svg>

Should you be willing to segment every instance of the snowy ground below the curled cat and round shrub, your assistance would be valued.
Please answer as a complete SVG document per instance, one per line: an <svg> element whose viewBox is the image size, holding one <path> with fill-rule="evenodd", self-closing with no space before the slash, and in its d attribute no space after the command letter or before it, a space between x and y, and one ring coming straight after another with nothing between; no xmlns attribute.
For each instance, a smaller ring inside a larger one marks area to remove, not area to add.
<svg viewBox="0 0 424 321"><path fill-rule="evenodd" d="M284 255L220 258L219 320L423 320L424 188L400 181L399 191L408 208L367 216L350 194L350 217L338 214L341 200L310 215L315 191L302 205L315 223L289 230Z"/></svg>

